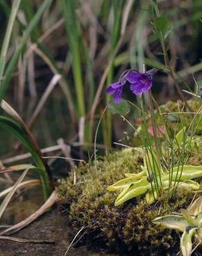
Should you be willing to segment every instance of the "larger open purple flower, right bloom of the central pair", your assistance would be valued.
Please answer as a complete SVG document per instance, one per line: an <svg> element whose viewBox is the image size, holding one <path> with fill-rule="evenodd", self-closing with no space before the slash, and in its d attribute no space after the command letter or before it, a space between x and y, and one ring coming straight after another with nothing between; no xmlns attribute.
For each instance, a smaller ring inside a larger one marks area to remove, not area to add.
<svg viewBox="0 0 202 256"><path fill-rule="evenodd" d="M131 91L136 95L149 91L149 89L152 87L152 80L156 72L156 68L152 68L150 71L145 73L134 71L129 72L127 74L127 80L131 84Z"/></svg>

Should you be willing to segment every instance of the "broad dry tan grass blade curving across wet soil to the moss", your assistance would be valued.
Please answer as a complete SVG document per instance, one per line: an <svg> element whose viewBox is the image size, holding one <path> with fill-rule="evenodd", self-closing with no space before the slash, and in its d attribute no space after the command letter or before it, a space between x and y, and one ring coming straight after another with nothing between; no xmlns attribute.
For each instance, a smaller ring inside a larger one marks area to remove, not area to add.
<svg viewBox="0 0 202 256"><path fill-rule="evenodd" d="M57 194L55 193L55 191L53 191L53 193L50 194L50 197L48 198L48 200L44 203L44 205L42 205L41 208L39 208L39 210L37 210L32 215L30 215L30 217L24 219L24 221L21 221L10 228L3 230L0 233L0 235L12 234L28 226L28 224L32 223L33 221L35 221L35 219L37 219L39 216L44 214L44 212L46 212L46 210L48 210L52 205L54 205L57 202L57 200L58 200Z"/></svg>

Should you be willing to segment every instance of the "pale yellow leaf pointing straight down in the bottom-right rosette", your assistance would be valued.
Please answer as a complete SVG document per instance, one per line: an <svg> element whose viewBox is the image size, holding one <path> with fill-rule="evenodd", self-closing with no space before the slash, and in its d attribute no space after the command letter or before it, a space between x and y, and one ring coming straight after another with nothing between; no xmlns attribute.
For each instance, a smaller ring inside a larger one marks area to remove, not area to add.
<svg viewBox="0 0 202 256"><path fill-rule="evenodd" d="M190 256L192 252L192 236L195 233L196 228L192 228L189 232L186 230L181 237L181 252L183 256Z"/></svg>

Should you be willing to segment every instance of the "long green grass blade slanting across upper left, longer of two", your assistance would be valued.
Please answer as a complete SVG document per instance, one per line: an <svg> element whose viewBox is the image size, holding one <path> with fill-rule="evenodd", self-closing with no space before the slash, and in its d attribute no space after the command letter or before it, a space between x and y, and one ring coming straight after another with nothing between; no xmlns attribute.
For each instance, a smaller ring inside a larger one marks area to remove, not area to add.
<svg viewBox="0 0 202 256"><path fill-rule="evenodd" d="M26 42L28 41L28 37L29 37L30 33L32 33L36 24L39 22L39 19L42 17L44 11L48 8L48 6L50 6L50 3L52 1L53 0L44 0L42 5L39 7L37 12L35 13L35 16L33 17L33 19L30 21L30 23L26 27L26 30L24 31L24 35L22 36L19 46L17 46L17 50L15 51L15 54L12 56L12 59L10 60L10 63L8 64L8 67L6 68L6 73L4 74L4 79L0 86L0 102L6 93L8 84L12 77L12 73L15 70L15 66L17 64L19 55L21 54L21 51L23 51L24 46L26 45Z"/></svg>

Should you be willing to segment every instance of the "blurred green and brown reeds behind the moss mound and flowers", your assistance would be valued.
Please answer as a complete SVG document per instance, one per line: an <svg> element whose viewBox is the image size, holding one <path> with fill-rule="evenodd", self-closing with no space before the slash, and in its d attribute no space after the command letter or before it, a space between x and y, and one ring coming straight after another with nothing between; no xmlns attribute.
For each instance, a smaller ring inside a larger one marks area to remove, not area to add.
<svg viewBox="0 0 202 256"><path fill-rule="evenodd" d="M131 136L128 122L104 111L107 86L127 68L160 69L152 88L159 104L199 94L200 0L0 0L0 6L0 100L20 114L48 156L89 160L95 136L98 154ZM148 95L144 100L147 108ZM131 111L126 118L138 126L138 115ZM7 130L0 136L2 165L27 157ZM61 172L59 161L49 164Z"/></svg>

